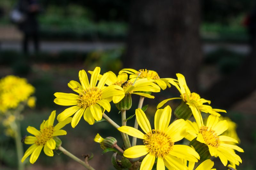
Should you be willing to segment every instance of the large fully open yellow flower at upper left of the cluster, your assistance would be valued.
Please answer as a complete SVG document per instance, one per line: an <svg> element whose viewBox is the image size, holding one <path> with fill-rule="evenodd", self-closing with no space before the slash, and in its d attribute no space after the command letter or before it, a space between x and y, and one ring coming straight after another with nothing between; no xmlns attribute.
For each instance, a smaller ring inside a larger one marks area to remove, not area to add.
<svg viewBox="0 0 256 170"><path fill-rule="evenodd" d="M61 112L57 119L63 121L67 117L72 115L71 126L74 128L84 115L84 120L89 124L94 124L94 119L99 121L102 118L101 107L110 111L110 101L113 96L124 95L124 91L120 86L108 86L105 87L105 82L108 79L108 73L102 75L100 81L97 84L100 75L100 67L96 67L92 72L91 81L89 83L87 74L84 70L79 71L79 80L70 81L68 87L78 93L55 93L54 103L62 106L72 106L63 112ZM120 99L121 100L121 99ZM113 100L114 103L118 103L119 99Z"/></svg>

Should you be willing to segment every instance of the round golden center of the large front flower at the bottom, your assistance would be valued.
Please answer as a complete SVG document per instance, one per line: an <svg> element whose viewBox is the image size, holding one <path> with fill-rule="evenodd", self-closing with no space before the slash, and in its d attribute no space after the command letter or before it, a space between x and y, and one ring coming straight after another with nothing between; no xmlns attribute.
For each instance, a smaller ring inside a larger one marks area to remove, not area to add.
<svg viewBox="0 0 256 170"><path fill-rule="evenodd" d="M144 145L148 147L148 152L156 157L164 158L172 150L174 142L163 131L153 129L146 134Z"/></svg>

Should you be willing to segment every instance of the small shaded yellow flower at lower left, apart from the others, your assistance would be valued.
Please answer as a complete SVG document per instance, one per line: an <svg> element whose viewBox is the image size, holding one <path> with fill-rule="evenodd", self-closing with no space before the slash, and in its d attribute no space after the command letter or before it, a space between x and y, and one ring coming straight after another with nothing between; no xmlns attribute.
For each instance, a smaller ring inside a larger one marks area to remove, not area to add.
<svg viewBox="0 0 256 170"><path fill-rule="evenodd" d="M53 156L52 150L54 150L56 147L56 142L53 139L53 137L66 135L67 132L64 130L61 130L61 128L71 122L71 117L69 117L64 121L56 124L56 126L53 126L55 115L56 115L56 110L52 111L48 120L43 121L43 123L40 125L40 131L38 131L36 128L32 126L28 126L27 131L34 136L27 136L25 138L24 143L32 144L32 145L24 153L24 156L21 159L21 162L24 162L24 160L29 155L31 155L29 161L31 164L34 164L43 148L44 148L44 153L47 156Z"/></svg>

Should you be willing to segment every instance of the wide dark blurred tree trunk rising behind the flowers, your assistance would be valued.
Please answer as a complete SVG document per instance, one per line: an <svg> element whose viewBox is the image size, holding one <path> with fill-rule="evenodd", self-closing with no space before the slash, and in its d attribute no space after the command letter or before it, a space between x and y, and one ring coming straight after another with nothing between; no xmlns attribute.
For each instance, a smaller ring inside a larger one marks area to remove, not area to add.
<svg viewBox="0 0 256 170"><path fill-rule="evenodd" d="M196 91L199 25L199 0L132 0L125 67L155 70L162 78L181 73Z"/></svg>

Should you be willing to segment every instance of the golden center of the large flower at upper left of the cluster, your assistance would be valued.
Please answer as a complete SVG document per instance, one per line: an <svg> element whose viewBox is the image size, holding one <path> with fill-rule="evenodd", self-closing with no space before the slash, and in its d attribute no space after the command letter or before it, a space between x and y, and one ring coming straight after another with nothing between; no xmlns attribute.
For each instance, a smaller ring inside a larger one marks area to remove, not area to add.
<svg viewBox="0 0 256 170"><path fill-rule="evenodd" d="M89 107L99 101L101 96L102 91L97 87L88 88L79 95L77 105L83 108Z"/></svg>

